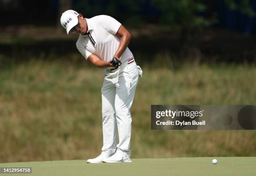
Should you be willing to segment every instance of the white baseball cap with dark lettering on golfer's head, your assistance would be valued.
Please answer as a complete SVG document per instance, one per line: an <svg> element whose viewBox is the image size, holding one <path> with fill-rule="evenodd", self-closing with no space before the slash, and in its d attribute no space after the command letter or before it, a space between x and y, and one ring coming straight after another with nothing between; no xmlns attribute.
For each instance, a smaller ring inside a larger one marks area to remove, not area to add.
<svg viewBox="0 0 256 176"><path fill-rule="evenodd" d="M67 34L69 31L78 24L78 16L79 14L74 10L67 10L61 15L61 25L67 30Z"/></svg>

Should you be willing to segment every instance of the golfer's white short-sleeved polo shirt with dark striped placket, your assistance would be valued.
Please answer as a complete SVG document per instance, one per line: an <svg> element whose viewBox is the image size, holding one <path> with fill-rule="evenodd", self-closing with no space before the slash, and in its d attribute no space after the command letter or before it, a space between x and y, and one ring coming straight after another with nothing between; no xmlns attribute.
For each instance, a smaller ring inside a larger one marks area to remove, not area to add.
<svg viewBox="0 0 256 176"><path fill-rule="evenodd" d="M101 60L110 61L118 49L120 38L116 36L121 23L113 17L99 15L90 19L85 18L88 25L88 35L79 35L77 49L87 59L91 54L97 55ZM125 62L133 57L133 53L126 48L120 57Z"/></svg>

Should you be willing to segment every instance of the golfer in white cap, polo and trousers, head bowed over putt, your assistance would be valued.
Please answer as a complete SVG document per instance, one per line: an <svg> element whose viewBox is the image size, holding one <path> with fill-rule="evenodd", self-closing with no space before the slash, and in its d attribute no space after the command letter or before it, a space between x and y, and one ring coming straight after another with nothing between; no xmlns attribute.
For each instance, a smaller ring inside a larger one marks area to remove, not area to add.
<svg viewBox="0 0 256 176"><path fill-rule="evenodd" d="M127 47L131 34L113 17L84 18L74 10L61 16L69 33L79 33L77 49L90 63L105 68L102 94L103 146L87 163L131 162L131 105L142 70ZM114 59L115 58L115 59ZM113 62L115 60L115 62ZM117 143L117 130L119 143Z"/></svg>

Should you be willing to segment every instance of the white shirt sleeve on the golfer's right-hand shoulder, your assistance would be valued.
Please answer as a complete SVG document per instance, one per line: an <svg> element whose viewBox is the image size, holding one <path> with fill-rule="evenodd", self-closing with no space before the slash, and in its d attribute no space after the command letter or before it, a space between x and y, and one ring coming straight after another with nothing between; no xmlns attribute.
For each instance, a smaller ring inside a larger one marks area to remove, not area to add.
<svg viewBox="0 0 256 176"><path fill-rule="evenodd" d="M115 18L110 17L108 15L102 15L102 24L106 30L108 30L112 34L116 34L118 29L121 26L121 23L115 20Z"/></svg>

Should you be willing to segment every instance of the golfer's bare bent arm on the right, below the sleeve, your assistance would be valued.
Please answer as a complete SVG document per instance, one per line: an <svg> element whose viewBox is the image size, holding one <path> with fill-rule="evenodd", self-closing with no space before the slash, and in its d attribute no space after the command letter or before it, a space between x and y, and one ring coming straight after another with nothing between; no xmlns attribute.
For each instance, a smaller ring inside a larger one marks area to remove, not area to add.
<svg viewBox="0 0 256 176"><path fill-rule="evenodd" d="M129 45L129 42L131 40L131 34L130 32L128 32L128 30L125 29L125 27L123 27L123 25L121 25L115 35L120 37L120 44L118 46L118 50L115 52L114 57L120 58Z"/></svg>

